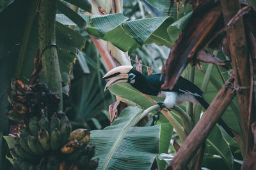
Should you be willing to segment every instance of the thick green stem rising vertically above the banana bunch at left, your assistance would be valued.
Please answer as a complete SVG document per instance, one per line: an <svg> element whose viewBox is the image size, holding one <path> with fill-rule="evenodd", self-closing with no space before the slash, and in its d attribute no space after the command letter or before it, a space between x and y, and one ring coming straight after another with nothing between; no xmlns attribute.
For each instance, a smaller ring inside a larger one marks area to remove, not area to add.
<svg viewBox="0 0 256 170"><path fill-rule="evenodd" d="M39 47L42 54L44 79L52 90L61 99L62 110L62 83L55 37L56 0L42 0L39 13Z"/></svg>

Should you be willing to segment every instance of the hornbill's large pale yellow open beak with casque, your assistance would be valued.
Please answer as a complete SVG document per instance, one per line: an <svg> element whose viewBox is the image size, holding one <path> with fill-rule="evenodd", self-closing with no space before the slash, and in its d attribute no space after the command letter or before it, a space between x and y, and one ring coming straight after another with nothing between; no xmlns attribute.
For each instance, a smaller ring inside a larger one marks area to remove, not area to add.
<svg viewBox="0 0 256 170"><path fill-rule="evenodd" d="M129 71L131 71L132 66L119 66L111 69L107 74L103 76L103 80L108 80L104 91L108 90L109 87L116 85L118 83L126 83L129 77Z"/></svg>

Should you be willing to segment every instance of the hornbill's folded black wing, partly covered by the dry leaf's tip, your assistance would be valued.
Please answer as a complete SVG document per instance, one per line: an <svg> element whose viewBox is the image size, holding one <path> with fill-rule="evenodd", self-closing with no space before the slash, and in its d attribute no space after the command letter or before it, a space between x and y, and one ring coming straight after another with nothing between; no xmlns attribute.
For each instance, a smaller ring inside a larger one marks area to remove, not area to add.
<svg viewBox="0 0 256 170"><path fill-rule="evenodd" d="M152 74L150 76L146 77L147 84L152 89L161 89L161 85L164 83L165 76L164 74L161 77L161 74ZM169 89L166 89L163 91L170 91ZM193 96L198 97L204 97L205 94L200 90L195 84L193 84L191 81L186 80L182 76L179 77L177 83L173 87L173 92L182 92L182 93L189 93Z"/></svg>

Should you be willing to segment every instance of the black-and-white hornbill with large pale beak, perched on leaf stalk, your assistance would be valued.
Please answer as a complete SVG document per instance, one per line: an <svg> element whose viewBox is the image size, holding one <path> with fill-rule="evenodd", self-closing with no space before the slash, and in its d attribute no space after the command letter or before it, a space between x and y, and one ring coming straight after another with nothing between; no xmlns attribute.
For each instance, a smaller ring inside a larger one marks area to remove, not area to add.
<svg viewBox="0 0 256 170"><path fill-rule="evenodd" d="M205 110L207 110L209 104L204 100L204 92L196 87L191 81L180 76L172 90L161 89L161 86L164 83L164 74L144 76L132 68L132 66L118 66L106 73L102 78L103 80L108 80L105 91L118 83L130 83L132 87L143 94L165 97L163 102L156 103L159 104L160 108L165 106L170 109L173 108L175 104L182 104L184 101L190 101L195 104L201 104ZM220 119L218 124L220 124L230 136L234 137L234 134L222 119Z"/></svg>

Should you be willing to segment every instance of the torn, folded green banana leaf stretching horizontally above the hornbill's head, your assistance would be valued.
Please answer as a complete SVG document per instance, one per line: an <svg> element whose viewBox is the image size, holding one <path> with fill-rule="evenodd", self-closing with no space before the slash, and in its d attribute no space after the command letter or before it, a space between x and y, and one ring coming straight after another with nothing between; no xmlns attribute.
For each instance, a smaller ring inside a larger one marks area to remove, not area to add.
<svg viewBox="0 0 256 170"><path fill-rule="evenodd" d="M93 36L111 42L120 50L130 54L138 46L157 43L170 47L167 34L168 25L174 22L172 17L154 17L140 20L128 20L122 13L110 15L81 15L86 21L86 31ZM57 15L62 24L75 25L64 15Z"/></svg>

